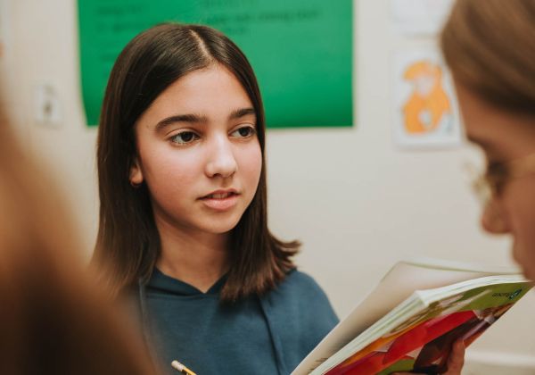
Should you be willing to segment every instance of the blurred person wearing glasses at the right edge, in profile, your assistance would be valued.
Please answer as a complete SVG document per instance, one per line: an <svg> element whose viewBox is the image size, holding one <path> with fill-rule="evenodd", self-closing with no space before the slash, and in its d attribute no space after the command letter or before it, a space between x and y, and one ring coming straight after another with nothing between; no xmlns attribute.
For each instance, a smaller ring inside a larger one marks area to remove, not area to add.
<svg viewBox="0 0 535 375"><path fill-rule="evenodd" d="M486 171L474 186L484 229L509 234L535 279L535 1L459 0L441 35L466 136Z"/></svg>

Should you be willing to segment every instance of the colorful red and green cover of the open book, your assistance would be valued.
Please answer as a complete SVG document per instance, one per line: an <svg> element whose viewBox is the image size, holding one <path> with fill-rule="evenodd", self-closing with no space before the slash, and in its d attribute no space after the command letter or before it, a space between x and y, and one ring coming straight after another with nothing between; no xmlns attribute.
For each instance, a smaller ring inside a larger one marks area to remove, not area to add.
<svg viewBox="0 0 535 375"><path fill-rule="evenodd" d="M457 339L472 344L530 288L528 283L477 287L433 302L326 374L445 372Z"/></svg>

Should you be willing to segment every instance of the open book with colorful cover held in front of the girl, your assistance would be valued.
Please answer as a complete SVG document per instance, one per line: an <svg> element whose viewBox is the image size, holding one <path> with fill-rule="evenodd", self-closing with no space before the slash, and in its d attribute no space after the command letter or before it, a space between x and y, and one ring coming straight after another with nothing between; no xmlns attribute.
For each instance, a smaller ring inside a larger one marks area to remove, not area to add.
<svg viewBox="0 0 535 375"><path fill-rule="evenodd" d="M453 342L470 345L530 288L511 268L399 262L292 375L444 372Z"/></svg>

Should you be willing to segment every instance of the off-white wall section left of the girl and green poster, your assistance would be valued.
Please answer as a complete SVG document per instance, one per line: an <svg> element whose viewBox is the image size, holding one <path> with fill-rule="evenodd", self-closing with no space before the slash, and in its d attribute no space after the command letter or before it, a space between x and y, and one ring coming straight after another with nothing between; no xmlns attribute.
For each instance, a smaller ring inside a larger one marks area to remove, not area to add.
<svg viewBox="0 0 535 375"><path fill-rule="evenodd" d="M22 144L48 159L62 182L65 197L89 256L97 228L95 178L96 129L85 125L78 78L76 1L3 0L12 12L12 72L8 100L19 124ZM37 123L35 93L50 84L57 92L62 121L57 127Z"/></svg>

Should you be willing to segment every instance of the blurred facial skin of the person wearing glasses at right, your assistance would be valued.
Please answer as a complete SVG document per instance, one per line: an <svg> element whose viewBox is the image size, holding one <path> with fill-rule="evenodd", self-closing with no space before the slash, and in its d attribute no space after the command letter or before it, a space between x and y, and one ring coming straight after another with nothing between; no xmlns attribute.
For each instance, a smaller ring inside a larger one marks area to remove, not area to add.
<svg viewBox="0 0 535 375"><path fill-rule="evenodd" d="M521 160L535 153L535 118L503 112L482 102L456 82L467 137L481 146L487 161ZM514 260L535 279L535 173L509 179L487 204L481 222L490 233L514 237Z"/></svg>

